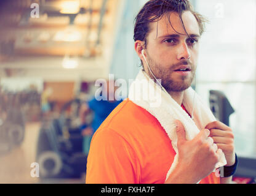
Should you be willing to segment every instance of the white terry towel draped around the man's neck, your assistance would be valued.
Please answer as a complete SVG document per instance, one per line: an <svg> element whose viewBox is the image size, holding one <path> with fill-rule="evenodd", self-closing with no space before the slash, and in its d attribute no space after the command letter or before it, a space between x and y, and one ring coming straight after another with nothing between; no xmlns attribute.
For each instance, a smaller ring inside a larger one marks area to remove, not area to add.
<svg viewBox="0 0 256 196"><path fill-rule="evenodd" d="M130 85L129 99L134 102L134 104L145 108L145 110L158 119L172 141L172 147L176 155L166 175L166 179L178 163L175 119L182 122L187 140L192 140L208 123L216 121L209 107L202 102L198 94L196 94L191 87L185 90L182 104L190 114L193 110L193 104L195 104L193 112L194 121L190 118L188 113L186 113L169 94L162 91L161 87L156 85L142 69L138 73L137 78ZM215 168L222 167L223 165L226 165L226 159L225 155L222 153L222 159L215 165Z"/></svg>

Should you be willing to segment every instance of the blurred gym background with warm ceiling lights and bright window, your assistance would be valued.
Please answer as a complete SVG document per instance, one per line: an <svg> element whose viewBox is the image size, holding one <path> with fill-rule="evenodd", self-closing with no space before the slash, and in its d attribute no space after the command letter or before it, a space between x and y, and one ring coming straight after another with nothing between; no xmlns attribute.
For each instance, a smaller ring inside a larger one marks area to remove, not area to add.
<svg viewBox="0 0 256 196"><path fill-rule="evenodd" d="M99 78L137 75L134 18L145 2L0 1L0 183L85 183L94 113L81 110ZM210 20L193 88L233 129L234 183L255 183L255 1L191 2Z"/></svg>

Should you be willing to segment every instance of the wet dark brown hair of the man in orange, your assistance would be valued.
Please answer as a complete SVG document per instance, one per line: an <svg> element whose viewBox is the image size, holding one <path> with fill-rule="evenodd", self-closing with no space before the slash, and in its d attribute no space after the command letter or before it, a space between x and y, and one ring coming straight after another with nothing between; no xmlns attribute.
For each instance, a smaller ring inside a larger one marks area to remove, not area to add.
<svg viewBox="0 0 256 196"><path fill-rule="evenodd" d="M202 35L205 29L205 22L207 21L199 13L193 10L193 7L188 0L150 0L146 2L146 4L142 7L137 17L135 18L135 26L134 26L134 41L141 40L145 42L146 47L146 37L150 32L150 23L157 22L162 19L162 17L166 16L170 23L170 13L176 12L180 17L180 21L182 22L182 26L185 29L182 20L182 13L185 11L190 11L199 25L199 33ZM170 23L172 26L172 24ZM172 27L173 28L173 27ZM174 29L174 28L173 28ZM174 29L175 31L175 29ZM176 31L177 32L177 31ZM186 32L186 29L185 29ZM180 34L179 32L177 32ZM188 35L188 33L186 32ZM190 37L188 35L188 37Z"/></svg>

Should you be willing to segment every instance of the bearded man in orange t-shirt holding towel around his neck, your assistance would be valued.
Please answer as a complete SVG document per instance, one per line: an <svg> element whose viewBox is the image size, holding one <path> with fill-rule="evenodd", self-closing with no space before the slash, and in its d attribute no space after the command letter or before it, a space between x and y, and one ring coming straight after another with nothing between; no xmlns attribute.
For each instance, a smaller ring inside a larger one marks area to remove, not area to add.
<svg viewBox="0 0 256 196"><path fill-rule="evenodd" d="M143 6L134 30L143 64L137 78L156 79L155 84L161 79L162 104L153 108L150 100L137 101L133 87L138 83L131 85L129 99L92 139L86 183L231 182L236 165L232 130L214 121L196 94L196 107L188 101L203 31L204 20L189 1L151 0ZM222 155L226 171L232 170L226 178L212 172Z"/></svg>

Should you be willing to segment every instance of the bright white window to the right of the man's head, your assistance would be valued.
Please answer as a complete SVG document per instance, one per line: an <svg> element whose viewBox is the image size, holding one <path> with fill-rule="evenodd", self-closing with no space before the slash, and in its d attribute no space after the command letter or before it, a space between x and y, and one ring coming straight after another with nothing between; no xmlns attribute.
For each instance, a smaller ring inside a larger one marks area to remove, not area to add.
<svg viewBox="0 0 256 196"><path fill-rule="evenodd" d="M256 156L255 0L196 0L196 11L210 21L201 39L196 91L223 91L235 112L230 127L236 152Z"/></svg>

